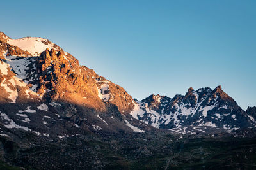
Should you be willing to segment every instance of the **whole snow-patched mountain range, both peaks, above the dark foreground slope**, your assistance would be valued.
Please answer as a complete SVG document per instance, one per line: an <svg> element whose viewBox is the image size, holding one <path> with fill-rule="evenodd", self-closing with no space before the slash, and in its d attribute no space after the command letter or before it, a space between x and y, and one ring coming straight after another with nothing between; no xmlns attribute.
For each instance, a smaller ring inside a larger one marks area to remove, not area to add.
<svg viewBox="0 0 256 170"><path fill-rule="evenodd" d="M183 134L256 125L255 114L243 111L220 86L136 101L44 38L12 39L0 32L0 59L0 112L5 128L63 136L67 128L60 124L83 132L145 132L156 127Z"/></svg>

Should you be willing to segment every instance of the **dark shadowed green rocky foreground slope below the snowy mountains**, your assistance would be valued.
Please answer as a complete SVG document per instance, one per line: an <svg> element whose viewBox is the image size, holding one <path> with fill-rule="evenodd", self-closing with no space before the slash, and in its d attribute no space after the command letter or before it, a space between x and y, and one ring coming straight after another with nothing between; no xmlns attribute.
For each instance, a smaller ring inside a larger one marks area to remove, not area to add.
<svg viewBox="0 0 256 170"><path fill-rule="evenodd" d="M1 160L25 169L256 169L255 137L180 138L164 132L26 137L16 136L16 143L1 136Z"/></svg>

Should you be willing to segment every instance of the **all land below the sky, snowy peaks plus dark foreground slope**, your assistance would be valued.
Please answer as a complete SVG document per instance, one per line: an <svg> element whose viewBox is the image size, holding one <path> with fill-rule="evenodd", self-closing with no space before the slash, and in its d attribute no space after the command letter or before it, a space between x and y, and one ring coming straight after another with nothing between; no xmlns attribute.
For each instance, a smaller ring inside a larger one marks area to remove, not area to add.
<svg viewBox="0 0 256 170"><path fill-rule="evenodd" d="M256 108L221 86L138 101L51 41L3 32L0 59L0 169L256 169Z"/></svg>

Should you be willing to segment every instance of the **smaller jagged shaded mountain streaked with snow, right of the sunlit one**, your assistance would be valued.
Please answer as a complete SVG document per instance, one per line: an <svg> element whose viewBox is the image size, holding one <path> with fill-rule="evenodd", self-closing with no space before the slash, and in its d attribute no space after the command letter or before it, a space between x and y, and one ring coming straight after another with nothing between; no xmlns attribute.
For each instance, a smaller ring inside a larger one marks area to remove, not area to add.
<svg viewBox="0 0 256 170"><path fill-rule="evenodd" d="M252 117L218 86L214 90L207 87L196 91L190 87L185 96L173 98L151 95L138 102L131 114L154 127L188 133L255 127L251 110L248 108Z"/></svg>

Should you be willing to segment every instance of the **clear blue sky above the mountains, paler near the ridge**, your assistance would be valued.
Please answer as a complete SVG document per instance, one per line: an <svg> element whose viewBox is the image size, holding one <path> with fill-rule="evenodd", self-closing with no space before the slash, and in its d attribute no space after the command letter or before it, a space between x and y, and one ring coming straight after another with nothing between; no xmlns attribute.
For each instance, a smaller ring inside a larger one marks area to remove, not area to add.
<svg viewBox="0 0 256 170"><path fill-rule="evenodd" d="M1 31L60 45L135 97L221 85L256 105L256 1L2 1Z"/></svg>

